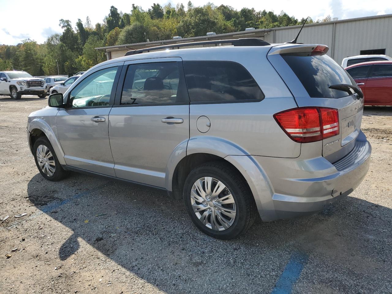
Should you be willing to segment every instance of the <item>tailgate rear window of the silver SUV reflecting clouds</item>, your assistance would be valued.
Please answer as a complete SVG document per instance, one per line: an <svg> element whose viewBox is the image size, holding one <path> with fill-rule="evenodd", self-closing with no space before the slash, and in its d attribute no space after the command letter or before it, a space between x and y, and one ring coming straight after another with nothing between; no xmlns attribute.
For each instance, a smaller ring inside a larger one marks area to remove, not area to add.
<svg viewBox="0 0 392 294"><path fill-rule="evenodd" d="M347 72L328 55L282 54L310 97L341 98L347 92L329 89L331 85L356 85Z"/></svg>

